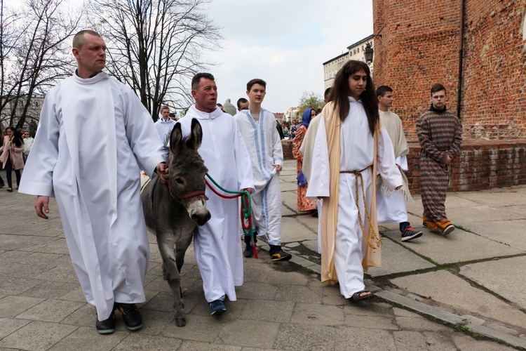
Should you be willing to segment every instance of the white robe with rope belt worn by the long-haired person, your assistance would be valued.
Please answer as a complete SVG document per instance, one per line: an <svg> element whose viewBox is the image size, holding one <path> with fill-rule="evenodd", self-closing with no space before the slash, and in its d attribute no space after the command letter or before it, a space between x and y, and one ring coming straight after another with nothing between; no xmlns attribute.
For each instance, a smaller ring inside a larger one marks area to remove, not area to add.
<svg viewBox="0 0 526 351"><path fill-rule="evenodd" d="M382 126L378 140L378 154L374 154L375 140L369 130L367 115L361 100L356 102L349 98L349 115L340 126L340 164L339 171L365 171L363 189L367 201L367 211L370 211L372 197L371 168L372 161L377 157L377 168L384 181L391 189L402 185L400 172L394 164L393 145L389 140L386 129ZM320 118L316 140L313 147L313 159L309 189L306 195L311 198L328 197L329 190L329 155L325 119ZM339 280L340 292L345 298L363 290L362 260L366 245L358 222L358 208L356 207L356 184L353 173L339 173L338 220L335 239L335 269ZM365 231L369 225L365 217L363 192L361 181L358 180L358 206Z"/></svg>

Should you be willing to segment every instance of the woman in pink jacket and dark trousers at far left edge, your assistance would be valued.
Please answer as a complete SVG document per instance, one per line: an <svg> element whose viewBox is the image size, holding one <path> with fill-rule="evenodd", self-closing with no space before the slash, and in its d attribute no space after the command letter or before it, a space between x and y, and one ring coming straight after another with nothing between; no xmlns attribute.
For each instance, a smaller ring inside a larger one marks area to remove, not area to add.
<svg viewBox="0 0 526 351"><path fill-rule="evenodd" d="M7 191L13 191L13 181L11 179L11 171L15 170L16 188L20 185L20 169L24 168L24 159L22 152L24 151L24 142L20 133L8 126L6 128L6 136L4 136L4 145L0 147L0 161L6 170Z"/></svg>

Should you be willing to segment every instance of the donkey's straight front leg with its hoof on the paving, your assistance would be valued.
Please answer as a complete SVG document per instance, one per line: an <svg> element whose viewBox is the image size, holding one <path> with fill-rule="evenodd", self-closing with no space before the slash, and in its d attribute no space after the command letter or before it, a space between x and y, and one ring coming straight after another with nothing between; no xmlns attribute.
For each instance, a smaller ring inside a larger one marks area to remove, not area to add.
<svg viewBox="0 0 526 351"><path fill-rule="evenodd" d="M163 266L166 270L168 285L170 285L170 289L172 290L175 324L177 326L185 326L187 321L184 317L180 293L181 275L175 265L174 244L175 237L172 232L157 233L157 245L159 246L159 252L163 258Z"/></svg>

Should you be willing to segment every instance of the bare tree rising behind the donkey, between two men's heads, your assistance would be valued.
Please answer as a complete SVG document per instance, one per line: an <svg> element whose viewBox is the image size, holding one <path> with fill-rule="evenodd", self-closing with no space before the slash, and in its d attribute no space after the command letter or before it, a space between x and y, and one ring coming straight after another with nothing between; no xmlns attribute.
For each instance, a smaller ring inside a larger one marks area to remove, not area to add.
<svg viewBox="0 0 526 351"><path fill-rule="evenodd" d="M107 41L107 69L131 86L159 118L161 105L191 105L189 78L217 48L219 29L203 12L209 0L98 0L95 25Z"/></svg>

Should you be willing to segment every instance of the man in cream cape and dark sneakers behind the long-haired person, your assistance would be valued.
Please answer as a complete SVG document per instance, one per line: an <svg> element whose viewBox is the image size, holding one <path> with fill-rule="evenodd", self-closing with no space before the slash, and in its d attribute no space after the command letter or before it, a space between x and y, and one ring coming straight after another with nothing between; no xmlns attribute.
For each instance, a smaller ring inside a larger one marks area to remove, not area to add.
<svg viewBox="0 0 526 351"><path fill-rule="evenodd" d="M394 100L393 89L389 86L379 86L376 90L376 95L378 98L380 120L389 134L391 143L393 143L393 150L396 157L395 163L404 180L402 189L391 192L387 187L383 186L382 178L380 177L378 179L379 189L376 193L378 223L399 223L402 241L410 241L422 237L422 230L413 229L407 220L405 199L410 199L411 194L407 186L407 178L403 172L407 171L409 147L407 146L407 140L405 140L400 117L398 117L398 114L389 110Z"/></svg>

